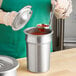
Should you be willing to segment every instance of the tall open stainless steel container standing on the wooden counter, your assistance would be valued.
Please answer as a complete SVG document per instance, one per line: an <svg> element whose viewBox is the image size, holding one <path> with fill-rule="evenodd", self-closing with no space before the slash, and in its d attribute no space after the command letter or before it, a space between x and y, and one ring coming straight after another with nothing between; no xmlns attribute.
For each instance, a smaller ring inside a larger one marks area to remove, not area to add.
<svg viewBox="0 0 76 76"><path fill-rule="evenodd" d="M52 30L48 34L32 35L35 27L26 29L27 69L31 72L47 72L50 68Z"/></svg>

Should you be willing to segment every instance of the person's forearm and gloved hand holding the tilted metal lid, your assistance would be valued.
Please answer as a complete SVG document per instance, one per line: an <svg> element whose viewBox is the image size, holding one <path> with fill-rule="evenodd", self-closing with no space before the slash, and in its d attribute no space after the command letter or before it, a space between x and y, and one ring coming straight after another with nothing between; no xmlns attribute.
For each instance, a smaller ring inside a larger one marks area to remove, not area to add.
<svg viewBox="0 0 76 76"><path fill-rule="evenodd" d="M0 7L2 5L2 1L0 0ZM17 12L12 11L12 12L5 12L2 9L0 9L0 24L5 24L5 25L10 25L12 26L13 19L17 15Z"/></svg>

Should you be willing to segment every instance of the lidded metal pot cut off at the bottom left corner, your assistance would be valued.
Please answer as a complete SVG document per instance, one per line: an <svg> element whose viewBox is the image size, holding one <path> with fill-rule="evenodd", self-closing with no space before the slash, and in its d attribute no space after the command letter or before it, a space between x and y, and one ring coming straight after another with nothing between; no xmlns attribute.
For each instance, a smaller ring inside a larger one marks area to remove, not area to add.
<svg viewBox="0 0 76 76"><path fill-rule="evenodd" d="M16 59L0 55L0 76L17 76L19 64Z"/></svg>

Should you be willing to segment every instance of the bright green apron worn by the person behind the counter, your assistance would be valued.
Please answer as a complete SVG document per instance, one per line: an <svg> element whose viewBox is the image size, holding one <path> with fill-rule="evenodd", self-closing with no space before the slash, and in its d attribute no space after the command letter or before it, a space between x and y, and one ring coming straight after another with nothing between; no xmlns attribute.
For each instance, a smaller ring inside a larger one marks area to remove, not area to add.
<svg viewBox="0 0 76 76"><path fill-rule="evenodd" d="M13 31L10 26L0 24L0 55L8 55L15 58L26 57L24 29L41 23L49 24L50 0L3 0L1 9L6 12L18 12L27 5L32 6L33 15L24 28L19 31Z"/></svg>

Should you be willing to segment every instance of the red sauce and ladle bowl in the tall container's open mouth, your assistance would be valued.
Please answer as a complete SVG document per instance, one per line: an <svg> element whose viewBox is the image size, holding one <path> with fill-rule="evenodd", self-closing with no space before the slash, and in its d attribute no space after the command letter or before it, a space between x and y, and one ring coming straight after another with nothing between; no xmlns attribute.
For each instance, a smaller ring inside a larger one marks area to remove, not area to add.
<svg viewBox="0 0 76 76"><path fill-rule="evenodd" d="M37 27L30 29L27 31L32 35L45 35L50 33L49 25L38 24Z"/></svg>

